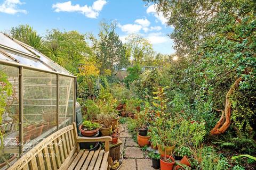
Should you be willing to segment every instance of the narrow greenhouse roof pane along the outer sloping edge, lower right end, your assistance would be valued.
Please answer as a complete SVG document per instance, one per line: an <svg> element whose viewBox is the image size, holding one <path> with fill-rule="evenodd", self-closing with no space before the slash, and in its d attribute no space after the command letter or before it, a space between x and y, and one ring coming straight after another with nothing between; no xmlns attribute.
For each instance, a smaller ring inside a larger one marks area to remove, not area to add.
<svg viewBox="0 0 256 170"><path fill-rule="evenodd" d="M57 72L65 73L65 74L70 74L67 70L63 69L61 66L59 66L57 63L54 63L52 60L44 56L43 54L39 53L37 50L26 46L31 52L35 53L37 56L40 57L40 60L48 64L52 69L56 70Z"/></svg>

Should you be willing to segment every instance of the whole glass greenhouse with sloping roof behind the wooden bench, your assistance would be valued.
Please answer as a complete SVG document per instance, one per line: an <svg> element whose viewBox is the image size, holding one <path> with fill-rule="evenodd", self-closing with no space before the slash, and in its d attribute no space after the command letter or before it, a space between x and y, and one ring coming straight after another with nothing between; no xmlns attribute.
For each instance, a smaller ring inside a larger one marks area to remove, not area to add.
<svg viewBox="0 0 256 170"><path fill-rule="evenodd" d="M4 94L6 98L1 96L6 103L1 124L6 158L14 153L19 158L43 138L74 122L76 77L4 33L0 33L0 73L0 86L11 83L12 91Z"/></svg>

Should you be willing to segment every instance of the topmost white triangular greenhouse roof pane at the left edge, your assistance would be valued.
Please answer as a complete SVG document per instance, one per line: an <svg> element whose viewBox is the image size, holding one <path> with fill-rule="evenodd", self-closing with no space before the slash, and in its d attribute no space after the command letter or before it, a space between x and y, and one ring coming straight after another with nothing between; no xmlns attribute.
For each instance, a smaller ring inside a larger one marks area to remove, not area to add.
<svg viewBox="0 0 256 170"><path fill-rule="evenodd" d="M13 41L11 38L5 36L2 32L0 32L0 44L4 45L6 47L10 47L10 48L19 50L20 52L23 52L23 53L33 55L26 48L22 47L18 43L15 43L15 41Z"/></svg>

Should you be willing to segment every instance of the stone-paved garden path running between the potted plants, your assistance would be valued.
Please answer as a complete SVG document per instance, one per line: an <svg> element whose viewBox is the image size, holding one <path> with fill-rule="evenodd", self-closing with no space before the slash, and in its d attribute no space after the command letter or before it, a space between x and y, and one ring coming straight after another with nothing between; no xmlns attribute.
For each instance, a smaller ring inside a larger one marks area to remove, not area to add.
<svg viewBox="0 0 256 170"><path fill-rule="evenodd" d="M151 159L147 156L147 151L141 151L141 148L132 139L127 124L120 124L121 152L123 153L123 163L119 170L153 170Z"/></svg>

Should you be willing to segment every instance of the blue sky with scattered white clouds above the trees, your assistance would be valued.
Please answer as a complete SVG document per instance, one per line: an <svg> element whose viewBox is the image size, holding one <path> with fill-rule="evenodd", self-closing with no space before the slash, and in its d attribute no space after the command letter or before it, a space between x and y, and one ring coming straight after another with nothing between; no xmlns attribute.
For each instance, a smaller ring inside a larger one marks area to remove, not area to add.
<svg viewBox="0 0 256 170"><path fill-rule="evenodd" d="M154 4L146 6L142 0L0 0L0 31L29 24L41 35L53 28L97 35L103 19L117 21L116 32L123 41L129 33L139 33L156 52L174 53L173 42L166 36L173 28L155 12Z"/></svg>

